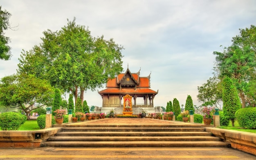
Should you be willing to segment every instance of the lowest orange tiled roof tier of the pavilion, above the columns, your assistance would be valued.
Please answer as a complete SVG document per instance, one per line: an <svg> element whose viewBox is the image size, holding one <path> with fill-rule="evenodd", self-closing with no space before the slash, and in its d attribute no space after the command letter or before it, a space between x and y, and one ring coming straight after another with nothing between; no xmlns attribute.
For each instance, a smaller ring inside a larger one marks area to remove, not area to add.
<svg viewBox="0 0 256 160"><path fill-rule="evenodd" d="M137 90L133 88L122 88L119 90L119 88L107 88L102 91L99 91L99 93L155 93L156 91L153 91L152 89L148 88L137 88Z"/></svg>

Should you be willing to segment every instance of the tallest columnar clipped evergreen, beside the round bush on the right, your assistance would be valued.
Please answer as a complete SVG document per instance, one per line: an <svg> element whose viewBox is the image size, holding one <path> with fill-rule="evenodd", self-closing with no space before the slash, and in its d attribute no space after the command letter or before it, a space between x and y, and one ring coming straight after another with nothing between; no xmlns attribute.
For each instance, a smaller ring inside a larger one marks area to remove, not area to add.
<svg viewBox="0 0 256 160"><path fill-rule="evenodd" d="M224 78L223 80L223 114L227 116L232 122L234 127L234 122L236 119L235 113L238 109L241 108L241 102L238 97L236 87L232 84L232 81L229 77Z"/></svg>

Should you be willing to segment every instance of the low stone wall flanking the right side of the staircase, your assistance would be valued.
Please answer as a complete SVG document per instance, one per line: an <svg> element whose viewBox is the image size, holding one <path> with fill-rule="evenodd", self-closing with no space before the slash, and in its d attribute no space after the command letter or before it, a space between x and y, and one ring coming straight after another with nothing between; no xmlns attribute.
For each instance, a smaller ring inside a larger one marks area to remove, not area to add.
<svg viewBox="0 0 256 160"><path fill-rule="evenodd" d="M256 133L210 127L205 128L205 131L220 137L224 142L229 143L231 148L256 156Z"/></svg>

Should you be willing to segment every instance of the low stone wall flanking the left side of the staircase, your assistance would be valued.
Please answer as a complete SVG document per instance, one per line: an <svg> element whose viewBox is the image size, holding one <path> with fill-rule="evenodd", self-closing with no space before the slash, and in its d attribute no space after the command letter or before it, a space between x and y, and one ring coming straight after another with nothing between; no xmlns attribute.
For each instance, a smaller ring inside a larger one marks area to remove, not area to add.
<svg viewBox="0 0 256 160"><path fill-rule="evenodd" d="M0 131L0 148L40 147L40 143L54 136L60 127L37 131Z"/></svg>

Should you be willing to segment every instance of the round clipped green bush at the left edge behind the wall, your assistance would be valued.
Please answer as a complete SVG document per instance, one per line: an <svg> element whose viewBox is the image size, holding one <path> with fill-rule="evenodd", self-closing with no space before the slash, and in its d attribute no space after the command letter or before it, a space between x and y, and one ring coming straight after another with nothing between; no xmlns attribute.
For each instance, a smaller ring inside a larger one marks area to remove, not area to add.
<svg viewBox="0 0 256 160"><path fill-rule="evenodd" d="M17 112L5 112L0 114L0 128L3 131L18 130L21 124L27 120L25 115Z"/></svg>

